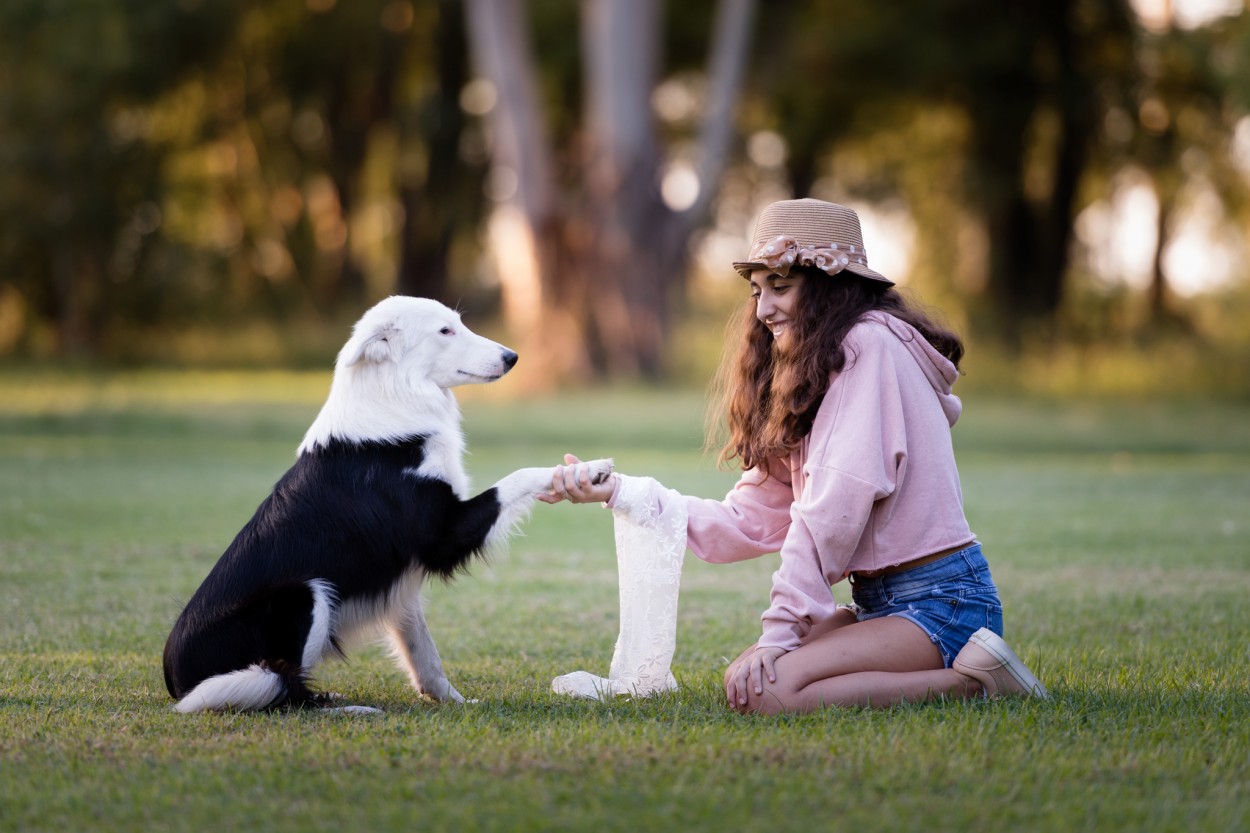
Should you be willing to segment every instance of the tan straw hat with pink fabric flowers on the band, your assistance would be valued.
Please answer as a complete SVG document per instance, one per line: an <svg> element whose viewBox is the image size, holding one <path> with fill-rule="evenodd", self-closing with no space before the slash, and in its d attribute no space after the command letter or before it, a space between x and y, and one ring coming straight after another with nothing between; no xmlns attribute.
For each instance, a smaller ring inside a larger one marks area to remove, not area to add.
<svg viewBox="0 0 1250 833"><path fill-rule="evenodd" d="M755 224L750 259L734 261L742 278L755 269L786 275L791 266L812 266L830 275L845 269L894 285L868 268L859 215L824 200L781 200L764 209Z"/></svg>

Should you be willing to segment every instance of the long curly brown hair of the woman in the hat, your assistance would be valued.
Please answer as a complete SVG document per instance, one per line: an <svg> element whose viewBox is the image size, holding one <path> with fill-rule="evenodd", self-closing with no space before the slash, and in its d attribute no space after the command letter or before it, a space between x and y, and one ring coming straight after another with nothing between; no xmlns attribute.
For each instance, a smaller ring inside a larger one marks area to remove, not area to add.
<svg viewBox="0 0 1250 833"><path fill-rule="evenodd" d="M964 356L964 343L955 333L892 286L850 271L826 275L798 268L790 274L796 271L802 279L785 339L776 341L755 318L754 299L730 320L708 413L708 444L720 445L721 465L736 459L742 469L766 470L769 459L799 448L832 374L854 361L844 346L846 334L871 310L911 324L956 369Z"/></svg>

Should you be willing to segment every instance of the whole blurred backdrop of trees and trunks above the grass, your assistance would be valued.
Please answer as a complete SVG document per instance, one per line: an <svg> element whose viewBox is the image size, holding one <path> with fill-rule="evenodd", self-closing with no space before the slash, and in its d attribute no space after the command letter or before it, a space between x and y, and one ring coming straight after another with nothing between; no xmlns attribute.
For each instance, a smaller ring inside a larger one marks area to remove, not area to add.
<svg viewBox="0 0 1250 833"><path fill-rule="evenodd" d="M701 381L759 210L858 209L968 385L1250 393L1241 0L5 0L0 361Z"/></svg>

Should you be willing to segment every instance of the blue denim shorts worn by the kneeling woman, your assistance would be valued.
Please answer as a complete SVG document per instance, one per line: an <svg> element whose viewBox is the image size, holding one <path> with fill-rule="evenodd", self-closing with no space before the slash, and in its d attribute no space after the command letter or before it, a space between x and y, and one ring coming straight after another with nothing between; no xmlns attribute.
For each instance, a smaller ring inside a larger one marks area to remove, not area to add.
<svg viewBox="0 0 1250 833"><path fill-rule="evenodd" d="M880 617L915 622L948 668L978 629L1002 635L1002 603L980 543L902 573L851 575L851 599L860 622Z"/></svg>

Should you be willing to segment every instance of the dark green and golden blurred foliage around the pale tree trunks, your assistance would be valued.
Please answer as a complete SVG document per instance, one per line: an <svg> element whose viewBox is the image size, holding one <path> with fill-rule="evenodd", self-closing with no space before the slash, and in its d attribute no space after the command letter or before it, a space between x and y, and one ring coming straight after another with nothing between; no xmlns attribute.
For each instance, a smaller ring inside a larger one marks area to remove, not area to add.
<svg viewBox="0 0 1250 833"><path fill-rule="evenodd" d="M690 158L718 6L662 4L664 80L694 103L660 125L671 159ZM1085 349L1090 334L1118 349L1168 326L1222 355L1245 328L1212 330L1208 301L1174 298L1162 273L1149 296L1109 290L1085 263L1096 253L1070 244L1076 213L1126 170L1149 180L1165 235L1214 194L1244 236L1232 136L1250 15L1188 30L1148 29L1124 0L758 11L740 126L775 131L786 154L736 160L720 231L744 236L788 189L871 203L910 229L909 284L1014 349ZM392 291L499 311L481 234L495 138L461 108L464 14L455 0L0 4L0 355L299 364ZM582 14L528 5L562 204L586 186Z"/></svg>

